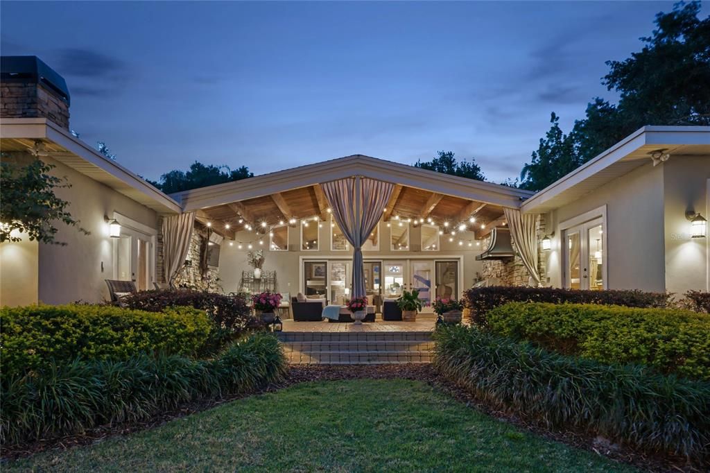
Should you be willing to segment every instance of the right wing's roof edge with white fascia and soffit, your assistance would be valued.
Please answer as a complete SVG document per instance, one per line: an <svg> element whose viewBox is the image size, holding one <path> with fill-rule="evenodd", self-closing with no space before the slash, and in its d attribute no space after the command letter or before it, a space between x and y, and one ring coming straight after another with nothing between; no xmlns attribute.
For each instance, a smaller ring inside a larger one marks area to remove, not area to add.
<svg viewBox="0 0 710 473"><path fill-rule="evenodd" d="M644 126L537 192L520 210L545 213L574 202L639 166L652 165L651 153L659 150L676 158L710 156L710 126Z"/></svg>

